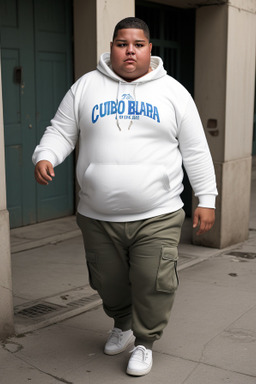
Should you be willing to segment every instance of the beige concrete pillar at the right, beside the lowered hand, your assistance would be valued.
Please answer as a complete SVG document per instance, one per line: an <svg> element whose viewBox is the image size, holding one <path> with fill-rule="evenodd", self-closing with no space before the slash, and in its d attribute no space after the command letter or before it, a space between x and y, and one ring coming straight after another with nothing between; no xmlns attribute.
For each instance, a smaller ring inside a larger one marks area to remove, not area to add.
<svg viewBox="0 0 256 384"><path fill-rule="evenodd" d="M223 248L248 237L255 47L255 2L234 0L197 10L195 100L219 196L215 227L194 235L195 244Z"/></svg>

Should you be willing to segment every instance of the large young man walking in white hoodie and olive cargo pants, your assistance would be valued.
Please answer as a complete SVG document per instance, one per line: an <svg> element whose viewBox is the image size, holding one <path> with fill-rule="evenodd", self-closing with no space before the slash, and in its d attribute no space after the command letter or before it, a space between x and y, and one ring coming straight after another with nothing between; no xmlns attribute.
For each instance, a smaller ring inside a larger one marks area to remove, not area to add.
<svg viewBox="0 0 256 384"><path fill-rule="evenodd" d="M151 49L142 20L121 20L110 54L70 88L33 155L36 180L46 185L79 140L77 222L90 284L113 318L104 352L134 342L133 376L150 372L178 287L182 164L199 201L198 234L214 224L217 195L195 103Z"/></svg>

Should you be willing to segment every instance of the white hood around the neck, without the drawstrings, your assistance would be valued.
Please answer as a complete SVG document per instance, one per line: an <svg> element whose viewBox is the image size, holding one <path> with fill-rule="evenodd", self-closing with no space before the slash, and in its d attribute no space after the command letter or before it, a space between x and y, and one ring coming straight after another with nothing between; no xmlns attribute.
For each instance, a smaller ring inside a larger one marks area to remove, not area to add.
<svg viewBox="0 0 256 384"><path fill-rule="evenodd" d="M163 61L160 57L151 56L150 66L152 71L147 73L146 75L140 77L139 79L133 81L126 81L122 77L118 76L115 72L113 72L111 68L110 61L110 53L103 53L100 57L99 64L97 69L103 73L105 76L110 77L112 80L118 82L124 82L128 84L141 84L146 83L151 80L157 80L166 75L166 70L163 67Z"/></svg>

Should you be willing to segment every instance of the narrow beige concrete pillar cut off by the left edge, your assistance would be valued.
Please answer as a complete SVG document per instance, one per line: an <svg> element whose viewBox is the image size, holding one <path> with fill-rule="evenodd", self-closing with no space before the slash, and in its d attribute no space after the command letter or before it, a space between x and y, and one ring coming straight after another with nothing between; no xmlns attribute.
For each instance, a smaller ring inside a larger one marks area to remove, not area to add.
<svg viewBox="0 0 256 384"><path fill-rule="evenodd" d="M0 57L1 59L1 57ZM1 60L0 60L0 90ZM10 255L9 214L6 209L5 158L4 158L4 124L2 92L0 92L0 339L14 333L13 300Z"/></svg>

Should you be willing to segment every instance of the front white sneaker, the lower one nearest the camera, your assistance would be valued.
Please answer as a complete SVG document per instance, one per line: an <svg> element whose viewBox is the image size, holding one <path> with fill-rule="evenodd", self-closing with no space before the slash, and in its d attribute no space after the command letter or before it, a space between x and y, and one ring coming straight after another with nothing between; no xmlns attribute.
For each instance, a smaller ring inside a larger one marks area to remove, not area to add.
<svg viewBox="0 0 256 384"><path fill-rule="evenodd" d="M132 376L143 376L150 372L153 364L152 351L138 345L132 351L126 373Z"/></svg>

